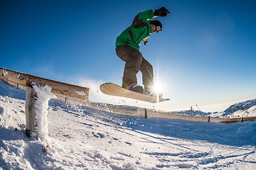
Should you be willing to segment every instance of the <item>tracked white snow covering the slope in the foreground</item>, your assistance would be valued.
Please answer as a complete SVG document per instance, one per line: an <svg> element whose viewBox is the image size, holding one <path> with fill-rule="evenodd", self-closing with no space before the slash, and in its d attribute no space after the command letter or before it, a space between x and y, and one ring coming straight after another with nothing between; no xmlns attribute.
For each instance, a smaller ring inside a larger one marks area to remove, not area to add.
<svg viewBox="0 0 256 170"><path fill-rule="evenodd" d="M39 88L42 103L49 89ZM0 169L256 169L256 122L134 118L50 100L48 113L38 106L48 137L36 140L25 135L25 103L25 91L0 81Z"/></svg>

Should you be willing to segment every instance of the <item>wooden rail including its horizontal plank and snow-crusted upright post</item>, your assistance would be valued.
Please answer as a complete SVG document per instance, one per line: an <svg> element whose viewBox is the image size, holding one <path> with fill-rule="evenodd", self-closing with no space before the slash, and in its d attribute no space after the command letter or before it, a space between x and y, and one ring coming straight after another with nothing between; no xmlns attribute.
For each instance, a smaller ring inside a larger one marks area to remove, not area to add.
<svg viewBox="0 0 256 170"><path fill-rule="evenodd" d="M17 86L17 88L26 90L26 135L29 137L31 132L36 133L38 137L38 125L45 125L41 121L37 120L36 114L38 109L36 108L36 102L40 99L36 93L34 86L50 86L50 91L53 94L66 96L68 98L79 98L84 102L90 100L90 89L82 86L75 86L73 84L66 84L59 81L53 81L42 77L36 77L30 74L16 72L11 69L5 69L0 67L0 79L6 84L11 86ZM46 101L48 103L48 101Z"/></svg>

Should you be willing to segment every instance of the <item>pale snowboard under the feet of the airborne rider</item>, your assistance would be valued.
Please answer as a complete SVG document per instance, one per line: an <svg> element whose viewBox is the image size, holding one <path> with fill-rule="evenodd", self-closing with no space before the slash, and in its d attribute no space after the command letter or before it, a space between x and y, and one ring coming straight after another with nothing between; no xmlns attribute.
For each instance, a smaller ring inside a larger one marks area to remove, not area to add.
<svg viewBox="0 0 256 170"><path fill-rule="evenodd" d="M141 94L134 91L129 91L127 89L118 86L117 84L113 83L105 83L100 85L100 91L103 94L111 95L111 96L119 96L119 97L126 97L126 98L133 98L139 101L147 101L150 103L157 103L161 101L169 101L169 98L161 98L157 96L150 96L147 94Z"/></svg>

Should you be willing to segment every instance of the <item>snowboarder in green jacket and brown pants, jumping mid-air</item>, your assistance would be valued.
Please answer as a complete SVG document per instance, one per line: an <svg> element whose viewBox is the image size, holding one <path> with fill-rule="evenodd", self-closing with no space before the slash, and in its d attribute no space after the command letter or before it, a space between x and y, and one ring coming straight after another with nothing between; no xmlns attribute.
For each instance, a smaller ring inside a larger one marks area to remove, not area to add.
<svg viewBox="0 0 256 170"><path fill-rule="evenodd" d="M161 7L155 11L147 10L139 13L129 26L124 30L116 40L117 56L125 63L124 75L122 77L122 88L129 91L149 94L156 96L154 91L154 75L152 65L144 59L142 53L139 52L142 42L144 45L148 42L151 33L158 33L162 29L162 25L158 20L151 20L159 16L167 16L169 11ZM137 73L142 72L142 86L137 85ZM159 94L162 96L162 94Z"/></svg>

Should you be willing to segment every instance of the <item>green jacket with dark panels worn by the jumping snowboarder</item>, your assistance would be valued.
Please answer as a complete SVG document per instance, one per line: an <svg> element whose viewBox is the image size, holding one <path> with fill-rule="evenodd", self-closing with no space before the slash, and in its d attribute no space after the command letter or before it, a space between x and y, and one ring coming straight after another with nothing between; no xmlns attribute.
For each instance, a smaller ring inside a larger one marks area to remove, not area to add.
<svg viewBox="0 0 256 170"><path fill-rule="evenodd" d="M142 42L146 42L149 34L152 33L150 29L150 20L156 17L153 10L144 11L135 16L132 26L124 30L116 40L116 46L129 45L139 50Z"/></svg>

